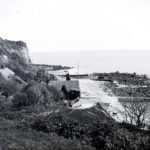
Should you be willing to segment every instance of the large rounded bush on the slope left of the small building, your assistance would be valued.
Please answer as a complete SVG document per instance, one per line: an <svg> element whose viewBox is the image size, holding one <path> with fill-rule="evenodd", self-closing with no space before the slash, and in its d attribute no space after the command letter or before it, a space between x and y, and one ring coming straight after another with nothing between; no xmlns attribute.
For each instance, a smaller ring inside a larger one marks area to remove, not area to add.
<svg viewBox="0 0 150 150"><path fill-rule="evenodd" d="M54 101L52 92L48 91L47 87L43 84L30 83L14 96L13 106L21 107L36 104L48 106Z"/></svg>

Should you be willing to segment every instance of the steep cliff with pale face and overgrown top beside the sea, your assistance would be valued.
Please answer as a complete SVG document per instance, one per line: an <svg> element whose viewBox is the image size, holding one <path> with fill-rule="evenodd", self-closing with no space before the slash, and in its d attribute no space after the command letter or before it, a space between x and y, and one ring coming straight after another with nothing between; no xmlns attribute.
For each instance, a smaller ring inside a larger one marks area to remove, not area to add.
<svg viewBox="0 0 150 150"><path fill-rule="evenodd" d="M0 38L0 63L9 66L9 68L30 65L31 60L26 43Z"/></svg>

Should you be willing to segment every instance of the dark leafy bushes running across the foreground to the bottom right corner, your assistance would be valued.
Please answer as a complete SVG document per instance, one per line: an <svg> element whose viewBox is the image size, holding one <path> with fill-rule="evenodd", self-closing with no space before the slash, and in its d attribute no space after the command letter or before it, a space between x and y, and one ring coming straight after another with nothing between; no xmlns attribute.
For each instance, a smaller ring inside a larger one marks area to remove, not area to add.
<svg viewBox="0 0 150 150"><path fill-rule="evenodd" d="M83 145L91 145L97 150L148 150L149 135L134 130L130 132L124 125L112 121L84 124L62 114L38 116L31 128L46 133L57 133L67 139L75 139Z"/></svg>

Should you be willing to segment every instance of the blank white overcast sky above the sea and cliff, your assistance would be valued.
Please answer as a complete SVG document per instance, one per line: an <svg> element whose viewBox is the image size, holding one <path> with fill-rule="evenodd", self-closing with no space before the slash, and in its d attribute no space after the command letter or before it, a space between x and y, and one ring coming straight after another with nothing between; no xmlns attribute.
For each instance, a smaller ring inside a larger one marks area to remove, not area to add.
<svg viewBox="0 0 150 150"><path fill-rule="evenodd" d="M31 52L149 50L150 0L0 0L0 36Z"/></svg>

